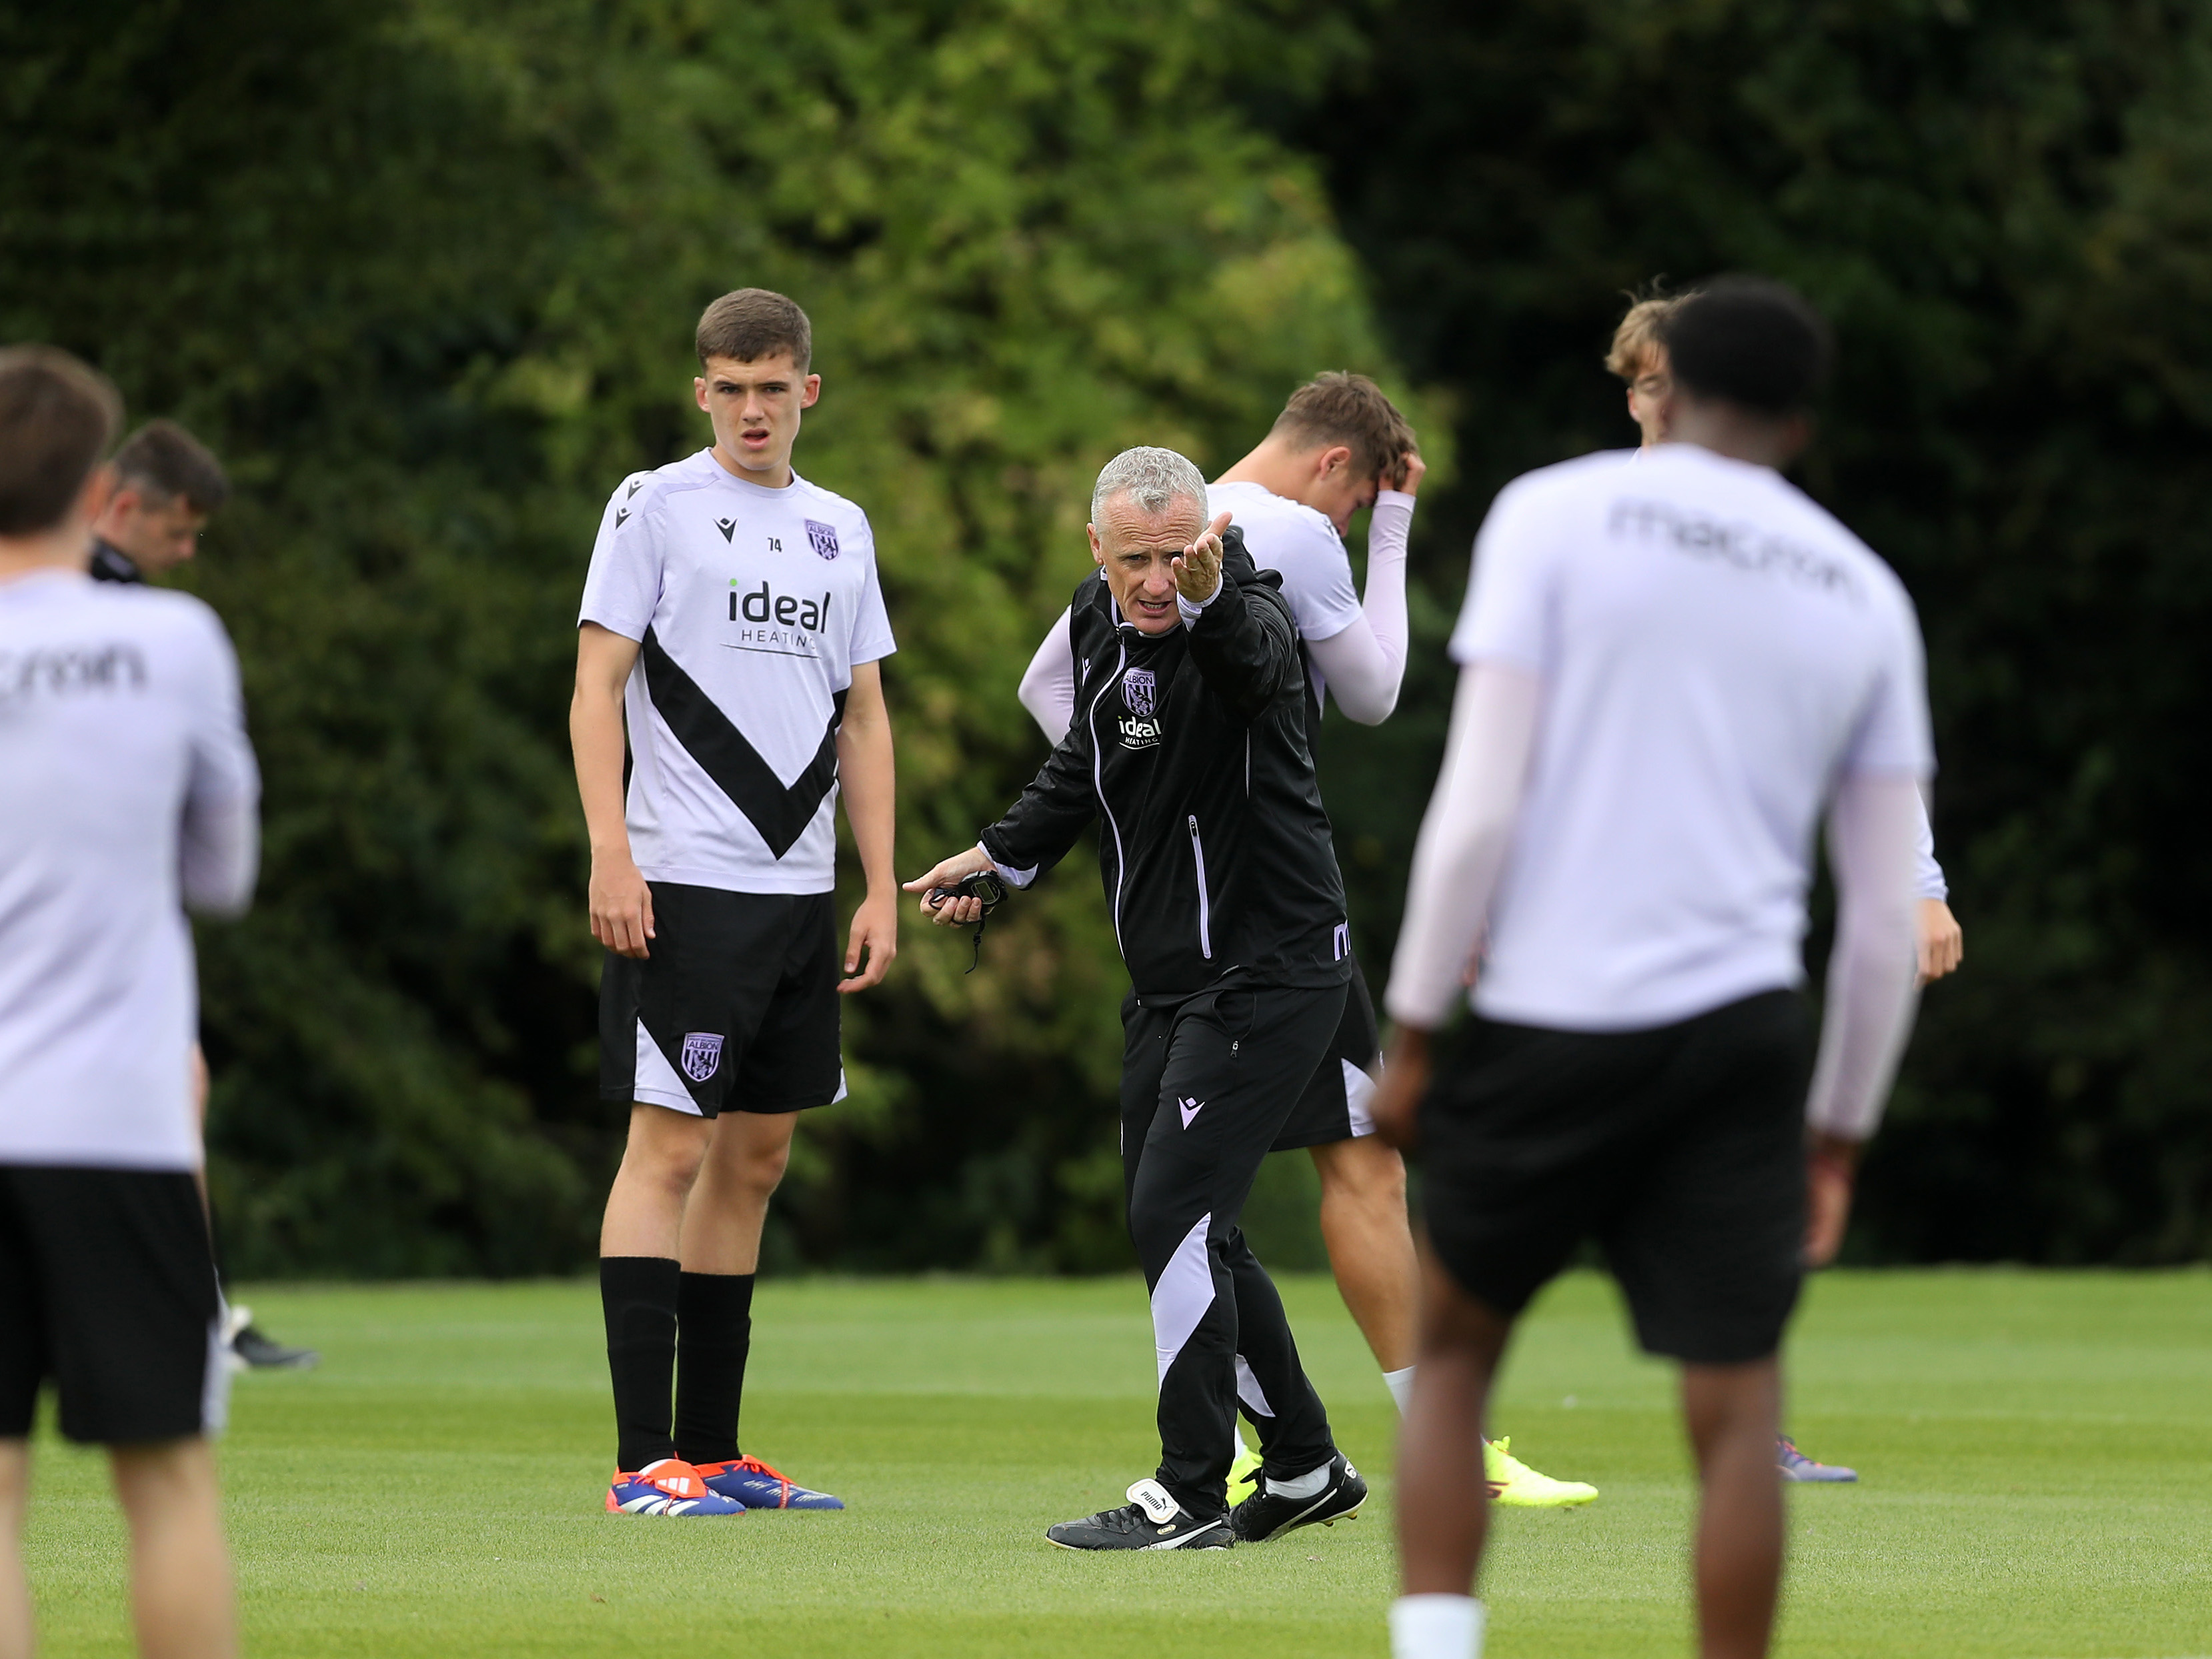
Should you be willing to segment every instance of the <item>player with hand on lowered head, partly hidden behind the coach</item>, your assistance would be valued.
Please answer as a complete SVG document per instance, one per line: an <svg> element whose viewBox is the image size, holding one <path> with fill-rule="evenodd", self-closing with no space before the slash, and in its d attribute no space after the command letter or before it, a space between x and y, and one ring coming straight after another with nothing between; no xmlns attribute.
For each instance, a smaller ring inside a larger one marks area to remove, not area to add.
<svg viewBox="0 0 2212 1659"><path fill-rule="evenodd" d="M1363 374L1323 374L1298 387L1261 445L1206 491L1208 513L1232 513L1245 553L1281 580L1307 659L1307 730L1318 741L1329 692L1347 719L1380 726L1405 679L1405 549L1427 471L1413 429ZM1374 509L1367 593L1352 586L1345 531ZM1064 611L1022 675L1022 706L1060 743L1075 723L1073 611ZM1413 1389L1420 1267L1405 1208L1405 1159L1374 1133L1367 1102L1380 1071L1374 1000L1358 958L1329 1053L1270 1150L1310 1148L1321 1175L1321 1237L1336 1287L1398 1409ZM1239 1436L1230 1502L1250 1491L1259 1453ZM1551 1480L1491 1444L1484 1475L1502 1504L1586 1504L1597 1486Z"/></svg>

